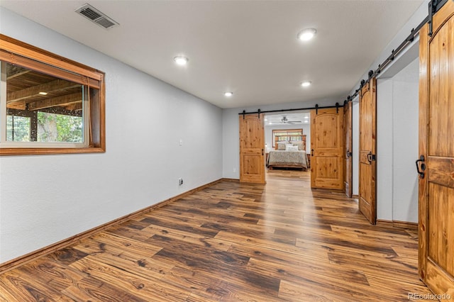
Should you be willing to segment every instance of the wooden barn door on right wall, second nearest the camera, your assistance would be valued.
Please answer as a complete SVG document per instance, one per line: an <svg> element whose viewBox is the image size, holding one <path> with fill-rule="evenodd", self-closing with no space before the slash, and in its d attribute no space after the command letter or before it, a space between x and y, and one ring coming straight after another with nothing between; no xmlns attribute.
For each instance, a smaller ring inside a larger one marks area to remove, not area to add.
<svg viewBox="0 0 454 302"><path fill-rule="evenodd" d="M370 79L360 91L360 189L359 208L361 213L374 224L377 220L377 81Z"/></svg>

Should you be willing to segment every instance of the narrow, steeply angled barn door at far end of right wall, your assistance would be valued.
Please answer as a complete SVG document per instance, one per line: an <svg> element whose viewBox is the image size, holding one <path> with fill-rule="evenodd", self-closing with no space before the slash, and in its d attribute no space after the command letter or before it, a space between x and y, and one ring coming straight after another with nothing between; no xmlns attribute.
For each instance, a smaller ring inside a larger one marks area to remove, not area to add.
<svg viewBox="0 0 454 302"><path fill-rule="evenodd" d="M353 142L352 142L352 111L353 111L353 104L352 102L347 102L345 106L343 106L343 130L344 130L344 138L345 138L345 147L344 147L344 181L343 187L345 190L345 195L351 198L352 196L352 176L353 176L353 169L352 169L352 150L353 150Z"/></svg>

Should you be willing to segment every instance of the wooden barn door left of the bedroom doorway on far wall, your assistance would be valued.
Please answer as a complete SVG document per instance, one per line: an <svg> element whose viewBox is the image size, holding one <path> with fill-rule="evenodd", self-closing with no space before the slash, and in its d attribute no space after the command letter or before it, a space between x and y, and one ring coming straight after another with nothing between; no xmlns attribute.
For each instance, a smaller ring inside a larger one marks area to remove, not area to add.
<svg viewBox="0 0 454 302"><path fill-rule="evenodd" d="M263 114L240 116L240 181L265 184Z"/></svg>

